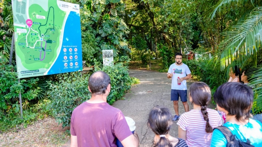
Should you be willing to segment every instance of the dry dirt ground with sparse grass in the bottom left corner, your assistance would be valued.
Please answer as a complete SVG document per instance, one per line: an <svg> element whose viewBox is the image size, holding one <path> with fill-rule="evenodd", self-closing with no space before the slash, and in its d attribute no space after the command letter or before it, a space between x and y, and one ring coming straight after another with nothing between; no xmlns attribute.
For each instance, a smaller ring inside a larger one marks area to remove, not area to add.
<svg viewBox="0 0 262 147"><path fill-rule="evenodd" d="M55 147L64 145L70 136L54 118L45 118L28 125L27 128L12 129L0 134L0 147Z"/></svg>

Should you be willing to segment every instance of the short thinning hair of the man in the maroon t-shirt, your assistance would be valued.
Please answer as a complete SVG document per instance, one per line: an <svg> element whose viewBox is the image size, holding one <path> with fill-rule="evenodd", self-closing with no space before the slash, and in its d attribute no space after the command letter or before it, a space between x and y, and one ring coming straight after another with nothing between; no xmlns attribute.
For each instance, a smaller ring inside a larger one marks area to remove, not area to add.
<svg viewBox="0 0 262 147"><path fill-rule="evenodd" d="M111 83L110 77L104 71L94 72L88 80L92 94L104 94L107 86Z"/></svg>

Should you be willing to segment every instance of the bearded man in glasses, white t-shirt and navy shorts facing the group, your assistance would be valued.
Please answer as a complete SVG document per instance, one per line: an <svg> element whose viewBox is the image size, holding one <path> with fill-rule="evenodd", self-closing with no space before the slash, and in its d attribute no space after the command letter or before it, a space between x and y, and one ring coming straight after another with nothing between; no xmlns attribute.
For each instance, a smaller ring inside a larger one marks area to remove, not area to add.
<svg viewBox="0 0 262 147"><path fill-rule="evenodd" d="M189 106L187 103L187 79L191 78L191 71L188 66L182 63L182 54L175 54L176 62L170 65L167 73L167 78L172 77L171 85L171 101L173 101L174 109L176 115L173 118L173 121L179 119L180 115L178 112L178 98L180 97L185 111L189 111ZM179 77L179 79L178 79Z"/></svg>

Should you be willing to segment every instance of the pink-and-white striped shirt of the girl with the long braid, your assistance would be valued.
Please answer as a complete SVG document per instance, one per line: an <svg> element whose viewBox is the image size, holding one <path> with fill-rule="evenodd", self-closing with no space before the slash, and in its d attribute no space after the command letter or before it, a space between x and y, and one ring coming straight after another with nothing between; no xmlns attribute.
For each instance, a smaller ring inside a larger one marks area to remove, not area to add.
<svg viewBox="0 0 262 147"><path fill-rule="evenodd" d="M216 110L207 108L209 123L212 128L222 125L222 119ZM187 131L186 143L189 147L209 147L212 133L206 133L206 121L200 110L190 110L182 114L177 125Z"/></svg>

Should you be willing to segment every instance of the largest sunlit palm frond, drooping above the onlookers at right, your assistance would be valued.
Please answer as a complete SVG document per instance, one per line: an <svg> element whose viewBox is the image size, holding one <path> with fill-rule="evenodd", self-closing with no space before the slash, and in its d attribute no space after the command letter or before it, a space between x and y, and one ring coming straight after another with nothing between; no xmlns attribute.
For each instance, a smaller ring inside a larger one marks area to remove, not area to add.
<svg viewBox="0 0 262 147"><path fill-rule="evenodd" d="M262 7L256 7L244 22L221 35L223 41L218 48L222 69L235 59L242 63L251 59L262 45Z"/></svg>

